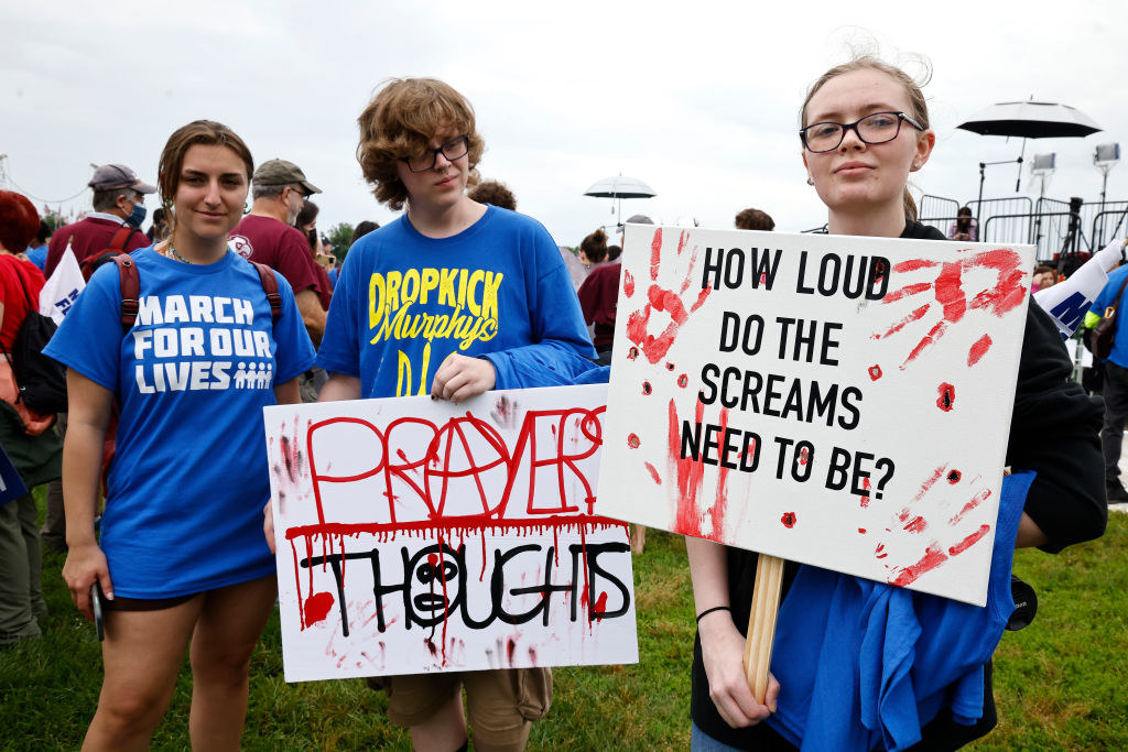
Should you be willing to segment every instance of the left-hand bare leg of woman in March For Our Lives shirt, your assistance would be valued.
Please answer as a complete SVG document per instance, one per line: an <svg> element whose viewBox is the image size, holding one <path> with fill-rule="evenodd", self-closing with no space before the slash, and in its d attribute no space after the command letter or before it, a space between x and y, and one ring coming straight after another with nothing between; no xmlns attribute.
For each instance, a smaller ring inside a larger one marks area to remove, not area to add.
<svg viewBox="0 0 1128 752"><path fill-rule="evenodd" d="M107 612L102 644L106 676L83 750L149 749L173 699L203 600L201 595L160 611Z"/></svg>

